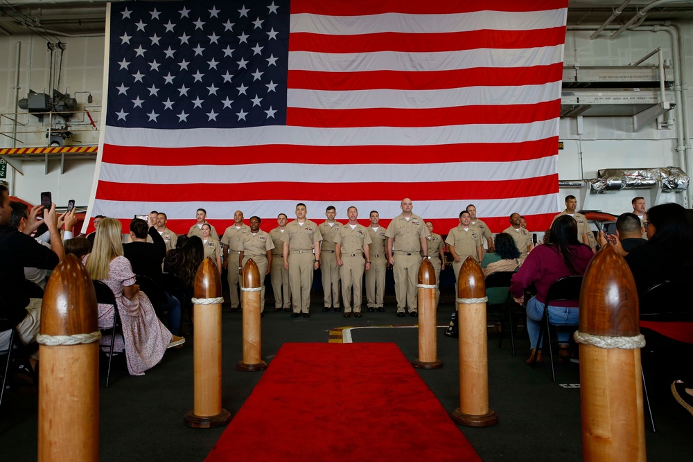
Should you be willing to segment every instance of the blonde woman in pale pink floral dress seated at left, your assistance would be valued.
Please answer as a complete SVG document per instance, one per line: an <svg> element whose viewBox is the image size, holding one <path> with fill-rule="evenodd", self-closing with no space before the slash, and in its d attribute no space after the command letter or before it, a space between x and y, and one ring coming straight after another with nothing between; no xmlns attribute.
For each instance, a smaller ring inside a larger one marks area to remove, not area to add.
<svg viewBox="0 0 693 462"><path fill-rule="evenodd" d="M130 261L123 256L121 223L104 218L96 230L94 249L82 260L92 279L103 281L116 298L123 336L116 337L114 350L125 350L130 375L143 375L161 361L166 348L181 345L182 337L171 335L159 321L152 303L135 284ZM160 237L160 236L159 236ZM98 304L98 326L113 325L112 305ZM101 346L110 346L110 337L101 337Z"/></svg>

